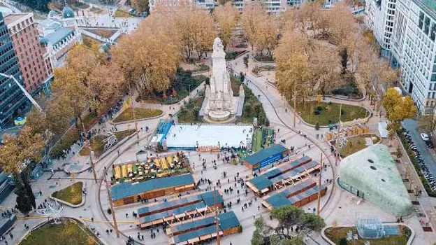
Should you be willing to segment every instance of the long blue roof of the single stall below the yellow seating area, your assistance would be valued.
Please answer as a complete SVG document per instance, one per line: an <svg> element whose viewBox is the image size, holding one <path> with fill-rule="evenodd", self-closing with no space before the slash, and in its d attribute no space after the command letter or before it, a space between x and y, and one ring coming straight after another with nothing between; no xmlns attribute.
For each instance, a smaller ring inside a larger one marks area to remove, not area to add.
<svg viewBox="0 0 436 245"><path fill-rule="evenodd" d="M152 179L140 183L120 183L110 188L112 201L120 200L125 197L131 197L140 193L147 193L150 190L159 190L174 186L185 186L194 184L194 178L191 174L170 176L166 178Z"/></svg>

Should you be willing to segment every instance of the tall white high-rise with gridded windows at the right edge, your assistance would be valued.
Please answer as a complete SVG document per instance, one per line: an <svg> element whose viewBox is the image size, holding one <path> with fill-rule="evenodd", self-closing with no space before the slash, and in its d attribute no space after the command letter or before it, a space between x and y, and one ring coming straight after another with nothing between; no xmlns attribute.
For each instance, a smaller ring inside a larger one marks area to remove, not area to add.
<svg viewBox="0 0 436 245"><path fill-rule="evenodd" d="M436 2L398 0L393 64L402 68L402 85L420 113L436 106Z"/></svg>

